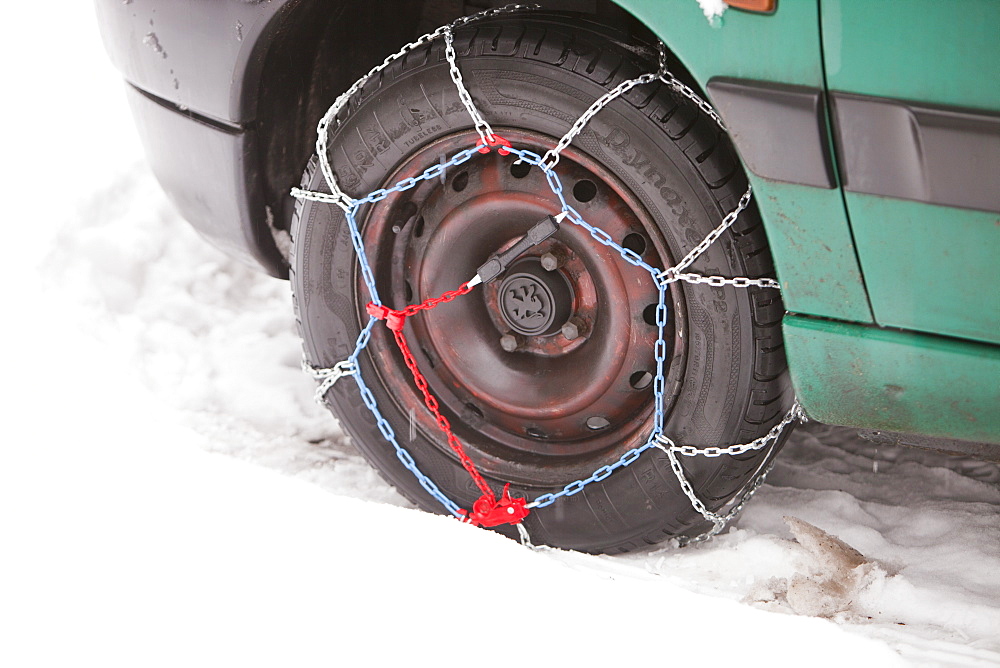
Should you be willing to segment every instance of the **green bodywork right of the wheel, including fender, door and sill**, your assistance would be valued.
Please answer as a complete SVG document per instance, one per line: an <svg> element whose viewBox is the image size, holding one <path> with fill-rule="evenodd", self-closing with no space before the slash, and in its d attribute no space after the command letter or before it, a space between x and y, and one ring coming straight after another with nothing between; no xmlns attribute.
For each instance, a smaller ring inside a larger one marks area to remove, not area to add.
<svg viewBox="0 0 1000 668"><path fill-rule="evenodd" d="M1000 443L1000 210L963 201L961 192L954 204L916 199L940 199L934 186L950 164L907 174L923 183L903 196L852 191L842 182L851 147L836 141L840 99L845 107L870 100L903 121L898 141L892 133L873 138L881 141L875 168L907 172L907 162L942 160L921 146L912 122L924 107L971 119L954 137L952 159L967 158L969 141L982 142L973 159L995 156L1000 2L781 0L771 14L729 10L712 21L690 0L621 4L663 40L729 123L782 284L789 366L809 416ZM748 153L780 160L798 147L786 144L780 120L751 119L756 126L742 136L733 103L713 85L720 80L816 91L832 182L758 173L766 170L755 170ZM956 131L945 128L946 140L948 132ZM966 172L992 188L1000 164L960 165L956 178Z"/></svg>

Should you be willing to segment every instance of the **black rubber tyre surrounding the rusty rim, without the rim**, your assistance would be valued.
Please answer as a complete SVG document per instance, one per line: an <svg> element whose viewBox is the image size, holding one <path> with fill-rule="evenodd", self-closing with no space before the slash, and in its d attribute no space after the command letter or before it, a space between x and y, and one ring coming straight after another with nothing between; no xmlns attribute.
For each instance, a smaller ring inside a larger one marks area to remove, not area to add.
<svg viewBox="0 0 1000 668"><path fill-rule="evenodd" d="M456 49L478 108L498 132L514 126L558 138L605 91L655 69L655 59L649 60L652 51L625 48L617 40L599 26L539 14L530 20L507 18L463 28L456 34ZM436 108L444 113L431 113L429 98L439 100ZM401 108L428 113L423 118L414 113L413 122L400 124ZM384 130L390 126L391 136ZM392 64L354 96L331 129L331 161L344 189L362 196L389 185L387 177L415 149L470 127L448 76L443 45L432 43ZM574 146L631 188L656 219L675 258L712 230L746 189L745 175L724 133L689 100L658 82L633 89L601 111ZM325 190L315 160L302 183ZM350 354L361 323L367 321L360 303L367 296L357 291L357 262L347 225L333 206L300 202L292 237L291 280L305 354L316 366L331 366ZM753 206L693 270L773 275L764 229ZM781 419L792 399L779 294L687 284L678 289L686 311L682 325L687 342L685 354L670 365L667 383L674 401L666 433L677 442L701 446L761 436ZM370 355L363 354L360 361L386 419L397 432L406 433L407 417L377 382ZM386 479L421 507L442 512L400 464L354 382L338 383L327 401ZM418 433L406 446L425 474L469 508L478 493L436 438ZM608 453L607 461L619 455ZM767 456L753 451L682 460L700 497L710 508L720 508L755 480ZM572 479L559 485L514 485L512 491L530 499L558 491ZM499 490L505 481L489 482ZM526 520L536 543L592 552L633 550L672 536L696 535L708 526L658 450ZM499 530L513 535L512 527Z"/></svg>

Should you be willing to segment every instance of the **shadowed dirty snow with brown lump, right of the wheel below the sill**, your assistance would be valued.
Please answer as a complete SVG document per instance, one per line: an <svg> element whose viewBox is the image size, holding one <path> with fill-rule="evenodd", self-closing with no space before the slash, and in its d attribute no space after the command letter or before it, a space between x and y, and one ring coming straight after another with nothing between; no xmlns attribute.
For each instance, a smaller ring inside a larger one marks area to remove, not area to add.
<svg viewBox="0 0 1000 668"><path fill-rule="evenodd" d="M634 558L700 591L831 618L918 662L1000 663L996 466L907 451L876 469L859 440L799 427L729 533Z"/></svg>

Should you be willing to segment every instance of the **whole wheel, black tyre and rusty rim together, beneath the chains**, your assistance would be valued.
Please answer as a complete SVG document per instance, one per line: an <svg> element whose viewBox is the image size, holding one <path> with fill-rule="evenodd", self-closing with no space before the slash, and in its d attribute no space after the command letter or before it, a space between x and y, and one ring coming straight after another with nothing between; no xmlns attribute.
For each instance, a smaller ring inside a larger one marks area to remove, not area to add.
<svg viewBox="0 0 1000 668"><path fill-rule="evenodd" d="M605 91L655 69L651 50L625 48L605 28L559 15L476 23L456 32L455 46L484 117L514 146L538 153ZM397 60L350 100L332 124L329 157L344 190L361 197L475 139L443 45L434 42ZM728 138L658 82L597 114L563 153L557 172L584 218L664 267L718 225L746 189ZM315 161L302 183L326 190ZM494 151L366 205L357 220L382 300L402 308L457 287L490 252L557 212L553 201L537 168L514 166ZM645 442L652 425L656 328L655 309L649 309L656 288L648 274L647 286L617 253L572 227L564 224L554 245L529 251L522 268L535 276L537 256L552 252L561 263L557 282L568 285L574 317L580 316L580 336L568 338L555 323L555 333L514 332L518 349L507 352L499 341L514 316L498 313L501 280L407 321L410 347L456 435L491 487L499 491L510 482L515 497L533 499L586 478ZM368 321L369 296L339 209L300 202L292 235L291 279L305 354L311 364L329 367L354 349ZM755 208L692 269L772 275ZM665 433L697 446L744 443L766 433L792 400L779 295L675 283L669 299ZM359 366L419 468L470 508L479 492L423 408L382 323ZM387 480L422 508L442 512L397 459L354 382L337 383L326 400ZM719 509L748 488L776 450L682 460L701 499ZM710 525L685 497L666 455L653 449L533 511L525 526L535 543L613 553L698 535ZM510 526L497 530L515 535Z"/></svg>

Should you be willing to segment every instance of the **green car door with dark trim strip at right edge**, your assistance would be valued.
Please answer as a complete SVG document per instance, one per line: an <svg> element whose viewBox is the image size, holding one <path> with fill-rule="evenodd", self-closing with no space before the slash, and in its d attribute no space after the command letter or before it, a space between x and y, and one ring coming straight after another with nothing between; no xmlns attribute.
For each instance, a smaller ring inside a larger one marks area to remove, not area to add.
<svg viewBox="0 0 1000 668"><path fill-rule="evenodd" d="M1000 343L1000 2L820 7L844 199L876 321Z"/></svg>

